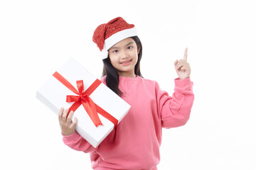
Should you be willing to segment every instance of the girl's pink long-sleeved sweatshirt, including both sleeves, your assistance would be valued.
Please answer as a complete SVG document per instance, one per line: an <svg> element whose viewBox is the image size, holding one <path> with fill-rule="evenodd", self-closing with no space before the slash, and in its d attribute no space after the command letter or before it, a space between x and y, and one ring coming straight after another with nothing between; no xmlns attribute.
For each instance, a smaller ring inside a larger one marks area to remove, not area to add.
<svg viewBox="0 0 256 170"><path fill-rule="evenodd" d="M105 83L105 77L102 82ZM191 79L175 79L174 82L174 94L169 96L156 81L119 77L122 98L131 105L131 109L117 128L97 148L77 132L63 136L63 142L75 150L90 152L92 169L157 169L161 128L185 125L193 105Z"/></svg>

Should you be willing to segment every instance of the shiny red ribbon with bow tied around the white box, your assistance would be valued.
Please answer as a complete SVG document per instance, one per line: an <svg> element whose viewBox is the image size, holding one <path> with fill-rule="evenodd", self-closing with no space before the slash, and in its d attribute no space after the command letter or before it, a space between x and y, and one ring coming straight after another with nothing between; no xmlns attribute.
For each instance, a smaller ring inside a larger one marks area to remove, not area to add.
<svg viewBox="0 0 256 170"><path fill-rule="evenodd" d="M63 76L61 76L58 72L55 72L53 74L53 77L58 79L60 83L62 83L64 86L66 86L70 91L73 91L75 94L78 94L78 96L67 96L66 101L67 102L75 102L72 106L70 106L68 114L70 111L76 111L77 108L82 104L82 106L85 108L85 111L90 116L90 119L97 127L98 125L102 125L102 122L100 121L99 115L97 113L100 113L103 117L110 120L112 123L114 123L114 128L117 126L118 120L114 118L110 113L107 113L104 111L100 106L97 106L96 103L92 101L90 98L90 94L92 94L95 89L97 89L97 86L101 84L101 81L99 79L96 79L90 87L86 91L84 91L84 85L82 80L76 81L78 86L78 91L75 89L75 87L68 82ZM67 115L68 116L68 115Z"/></svg>

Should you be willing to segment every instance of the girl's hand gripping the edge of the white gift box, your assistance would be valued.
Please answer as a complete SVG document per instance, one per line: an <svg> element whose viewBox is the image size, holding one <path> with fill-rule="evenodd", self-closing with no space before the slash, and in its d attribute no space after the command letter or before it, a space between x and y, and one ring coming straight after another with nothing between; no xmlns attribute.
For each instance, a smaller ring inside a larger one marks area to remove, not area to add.
<svg viewBox="0 0 256 170"><path fill-rule="evenodd" d="M73 111L68 114L68 109L60 108L58 119L60 123L60 129L63 135L72 135L75 132L75 127L78 125L78 119L72 123L71 118L73 116ZM68 117L67 117L68 115Z"/></svg>

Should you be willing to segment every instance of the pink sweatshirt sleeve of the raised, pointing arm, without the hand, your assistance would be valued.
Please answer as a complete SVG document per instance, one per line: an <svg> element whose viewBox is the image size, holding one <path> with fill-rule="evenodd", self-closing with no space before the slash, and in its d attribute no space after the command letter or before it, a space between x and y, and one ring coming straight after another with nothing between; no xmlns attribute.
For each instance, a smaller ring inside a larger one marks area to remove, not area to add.
<svg viewBox="0 0 256 170"><path fill-rule="evenodd" d="M174 80L174 94L169 96L166 91L159 90L158 104L163 128L175 128L185 125L190 117L193 106L193 82L188 79Z"/></svg>

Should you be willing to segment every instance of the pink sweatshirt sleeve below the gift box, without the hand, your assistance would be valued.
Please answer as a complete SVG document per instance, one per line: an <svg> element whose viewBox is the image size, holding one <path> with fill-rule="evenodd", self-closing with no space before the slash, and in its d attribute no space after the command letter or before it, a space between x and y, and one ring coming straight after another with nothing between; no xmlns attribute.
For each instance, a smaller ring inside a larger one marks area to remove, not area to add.
<svg viewBox="0 0 256 170"><path fill-rule="evenodd" d="M78 132L74 132L72 135L68 136L63 135L63 142L68 147L85 153L96 150L95 147L92 147L89 142L78 134Z"/></svg>

